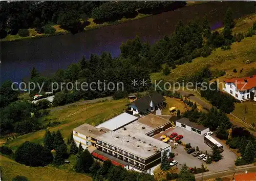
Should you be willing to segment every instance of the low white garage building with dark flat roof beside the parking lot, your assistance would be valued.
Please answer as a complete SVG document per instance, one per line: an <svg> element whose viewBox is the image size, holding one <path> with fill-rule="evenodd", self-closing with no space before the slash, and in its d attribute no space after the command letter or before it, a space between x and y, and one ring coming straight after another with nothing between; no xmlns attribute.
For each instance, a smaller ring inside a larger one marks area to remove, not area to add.
<svg viewBox="0 0 256 181"><path fill-rule="evenodd" d="M206 132L210 131L209 128L204 127L203 125L193 123L187 118L181 118L176 121L176 126L191 131L193 133L204 135Z"/></svg>

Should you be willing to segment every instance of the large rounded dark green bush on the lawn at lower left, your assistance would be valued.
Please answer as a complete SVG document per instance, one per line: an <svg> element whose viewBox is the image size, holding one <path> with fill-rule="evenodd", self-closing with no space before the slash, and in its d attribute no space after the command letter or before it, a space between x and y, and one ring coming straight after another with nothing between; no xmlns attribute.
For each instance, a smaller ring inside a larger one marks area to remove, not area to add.
<svg viewBox="0 0 256 181"><path fill-rule="evenodd" d="M27 166L46 166L53 161L52 153L45 147L26 141L15 152L15 161Z"/></svg>

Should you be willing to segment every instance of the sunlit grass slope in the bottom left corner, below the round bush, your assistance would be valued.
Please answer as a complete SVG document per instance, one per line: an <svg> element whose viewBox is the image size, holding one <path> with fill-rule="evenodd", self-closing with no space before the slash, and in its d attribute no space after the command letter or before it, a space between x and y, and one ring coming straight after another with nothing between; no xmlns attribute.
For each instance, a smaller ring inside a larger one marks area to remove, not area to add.
<svg viewBox="0 0 256 181"><path fill-rule="evenodd" d="M26 176L29 180L92 180L86 174L76 173L70 169L59 169L52 166L29 167L0 155L2 180L12 180L17 175Z"/></svg>

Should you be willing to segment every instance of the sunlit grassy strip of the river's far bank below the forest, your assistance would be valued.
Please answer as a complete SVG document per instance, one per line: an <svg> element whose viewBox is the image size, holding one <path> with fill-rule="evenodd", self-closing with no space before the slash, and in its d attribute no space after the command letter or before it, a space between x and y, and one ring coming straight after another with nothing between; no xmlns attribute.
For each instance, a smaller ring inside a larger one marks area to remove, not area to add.
<svg viewBox="0 0 256 181"><path fill-rule="evenodd" d="M200 4L205 4L205 3L208 3L208 2L188 1L186 6L194 6L194 5L200 5ZM88 19L89 25L84 27L84 32L89 31L89 30L94 30L94 29L97 29L97 28L101 28L101 27L118 25L118 24L122 24L124 22L137 20L137 19L148 17L148 16L152 16L152 15L153 14L138 13L138 15L134 18L124 18L123 17L123 18L118 19L116 21L103 22L102 24L96 24L94 22L94 18L89 18ZM56 30L55 33L53 33L53 34L45 34L45 33L40 33L39 34L39 33L36 32L35 28L33 28L33 29L28 29L29 30L29 36L27 36L27 37L22 37L22 36L19 36L18 34L16 34L16 35L8 34L5 38L1 39L0 41L3 41L3 42L4 41L20 41L20 40L24 40L24 39L33 39L33 38L42 38L42 37L50 37L50 36L70 34L69 31L60 28L60 25L53 25L52 27Z"/></svg>

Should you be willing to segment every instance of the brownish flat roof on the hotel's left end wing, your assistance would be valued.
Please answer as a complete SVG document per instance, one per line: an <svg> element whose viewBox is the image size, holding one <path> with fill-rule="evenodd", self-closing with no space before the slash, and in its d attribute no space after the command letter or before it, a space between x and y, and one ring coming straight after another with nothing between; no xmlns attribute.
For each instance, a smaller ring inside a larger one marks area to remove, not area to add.
<svg viewBox="0 0 256 181"><path fill-rule="evenodd" d="M100 127L100 128L96 128L90 124L82 124L81 126L78 126L76 128L73 129L76 132L79 132L80 134L86 135L88 137L98 137L99 135L102 135L108 131L110 131L109 129Z"/></svg>

